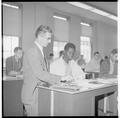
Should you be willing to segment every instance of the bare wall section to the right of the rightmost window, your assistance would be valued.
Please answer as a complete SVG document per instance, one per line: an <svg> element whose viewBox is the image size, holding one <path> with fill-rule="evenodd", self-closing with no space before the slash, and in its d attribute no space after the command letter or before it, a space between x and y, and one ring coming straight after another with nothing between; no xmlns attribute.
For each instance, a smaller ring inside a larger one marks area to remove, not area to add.
<svg viewBox="0 0 120 118"><path fill-rule="evenodd" d="M109 55L117 48L117 28L103 22L97 22L97 47L102 56Z"/></svg>

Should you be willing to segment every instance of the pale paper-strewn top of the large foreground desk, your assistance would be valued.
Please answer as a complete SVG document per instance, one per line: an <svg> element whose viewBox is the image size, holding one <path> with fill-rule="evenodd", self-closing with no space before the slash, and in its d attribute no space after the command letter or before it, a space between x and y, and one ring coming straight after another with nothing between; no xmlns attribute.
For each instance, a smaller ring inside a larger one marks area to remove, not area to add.
<svg viewBox="0 0 120 118"><path fill-rule="evenodd" d="M105 87L117 86L117 78L110 79L96 79L96 80L79 80L71 84L59 84L50 87L38 86L40 88L49 89L52 91L65 92L69 94L76 94L80 92L101 89Z"/></svg>

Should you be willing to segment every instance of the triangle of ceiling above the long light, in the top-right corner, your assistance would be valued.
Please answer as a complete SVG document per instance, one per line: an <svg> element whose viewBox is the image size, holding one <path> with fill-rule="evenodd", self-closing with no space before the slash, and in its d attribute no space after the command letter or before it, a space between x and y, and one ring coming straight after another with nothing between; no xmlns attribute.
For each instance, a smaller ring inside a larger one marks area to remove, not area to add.
<svg viewBox="0 0 120 118"><path fill-rule="evenodd" d="M83 2L117 16L117 2Z"/></svg>

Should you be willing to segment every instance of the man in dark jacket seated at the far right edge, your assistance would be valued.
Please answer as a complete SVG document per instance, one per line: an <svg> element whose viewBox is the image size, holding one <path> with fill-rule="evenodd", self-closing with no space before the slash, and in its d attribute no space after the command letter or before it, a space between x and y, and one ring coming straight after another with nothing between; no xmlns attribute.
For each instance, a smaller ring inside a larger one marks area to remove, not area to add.
<svg viewBox="0 0 120 118"><path fill-rule="evenodd" d="M108 58L100 64L100 74L106 77L116 77L118 71L118 50L113 49Z"/></svg>

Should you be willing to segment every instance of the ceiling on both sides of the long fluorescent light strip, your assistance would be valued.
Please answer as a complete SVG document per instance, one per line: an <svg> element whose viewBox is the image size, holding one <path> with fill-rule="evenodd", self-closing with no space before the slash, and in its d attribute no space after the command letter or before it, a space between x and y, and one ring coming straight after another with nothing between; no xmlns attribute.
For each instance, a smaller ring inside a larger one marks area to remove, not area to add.
<svg viewBox="0 0 120 118"><path fill-rule="evenodd" d="M89 20L91 19L93 21L105 22L107 24L117 26L117 21L115 20L112 20L105 16L101 16L99 14L85 10L83 8L73 6L67 2L40 2L40 4L42 3L44 5L58 9L60 11L80 16L81 18L87 18ZM99 9L103 9L115 15L117 14L117 2L84 2L84 3L87 3L89 5L91 4L92 6L94 5Z"/></svg>

